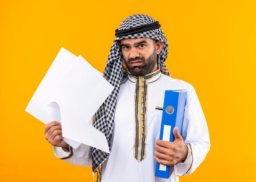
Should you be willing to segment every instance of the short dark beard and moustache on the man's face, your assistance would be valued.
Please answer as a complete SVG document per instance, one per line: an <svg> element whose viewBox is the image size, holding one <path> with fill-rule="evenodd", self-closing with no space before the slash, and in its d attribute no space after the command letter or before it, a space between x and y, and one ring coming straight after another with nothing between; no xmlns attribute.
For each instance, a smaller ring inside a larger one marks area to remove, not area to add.
<svg viewBox="0 0 256 182"><path fill-rule="evenodd" d="M136 61L136 60L141 60L141 62L143 64L140 66L132 67L130 62ZM143 56L141 56L141 57L137 57L137 58L130 58L130 59L128 59L128 61L126 61L124 59L124 62L126 64L128 71L131 73L131 75L144 76L148 73L151 73L153 71L153 69L155 68L155 65L157 64L156 51L154 50L154 52L146 60Z"/></svg>

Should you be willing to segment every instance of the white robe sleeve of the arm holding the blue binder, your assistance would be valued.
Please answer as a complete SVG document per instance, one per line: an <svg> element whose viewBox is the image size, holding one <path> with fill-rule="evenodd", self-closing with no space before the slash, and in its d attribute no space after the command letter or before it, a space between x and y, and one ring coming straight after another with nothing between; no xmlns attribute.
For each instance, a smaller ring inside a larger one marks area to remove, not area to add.
<svg viewBox="0 0 256 182"><path fill-rule="evenodd" d="M186 160L174 165L176 176L189 175L202 163L210 149L210 138L202 107L191 86L188 89L182 137L189 149Z"/></svg>

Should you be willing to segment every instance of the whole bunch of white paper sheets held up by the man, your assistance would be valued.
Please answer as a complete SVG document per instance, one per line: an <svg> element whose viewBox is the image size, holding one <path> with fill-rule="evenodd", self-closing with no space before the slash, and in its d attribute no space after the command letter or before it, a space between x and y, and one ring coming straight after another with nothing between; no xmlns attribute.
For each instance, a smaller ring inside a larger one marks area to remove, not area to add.
<svg viewBox="0 0 256 182"><path fill-rule="evenodd" d="M74 149L83 143L109 153L105 135L89 121L113 89L81 55L61 48L26 111L45 124L60 121Z"/></svg>

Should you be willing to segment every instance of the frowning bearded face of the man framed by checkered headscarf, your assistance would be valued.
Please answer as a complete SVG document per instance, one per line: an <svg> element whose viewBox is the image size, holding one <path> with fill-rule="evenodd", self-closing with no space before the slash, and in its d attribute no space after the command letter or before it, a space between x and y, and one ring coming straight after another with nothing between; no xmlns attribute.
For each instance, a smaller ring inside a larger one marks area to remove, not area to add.
<svg viewBox="0 0 256 182"><path fill-rule="evenodd" d="M122 39L124 61L130 73L144 76L157 70L155 40L151 38Z"/></svg>

